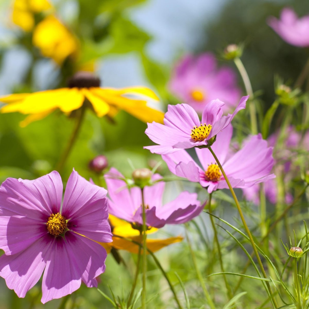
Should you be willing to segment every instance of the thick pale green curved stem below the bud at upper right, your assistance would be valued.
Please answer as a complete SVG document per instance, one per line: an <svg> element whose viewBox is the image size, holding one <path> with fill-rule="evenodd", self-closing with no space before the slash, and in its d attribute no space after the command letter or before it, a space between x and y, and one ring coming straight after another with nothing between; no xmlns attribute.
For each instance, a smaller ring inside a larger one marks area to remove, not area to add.
<svg viewBox="0 0 309 309"><path fill-rule="evenodd" d="M256 119L256 108L254 105L254 101L253 101L253 90L252 90L252 86L250 83L250 79L248 76L248 73L243 65L243 62L240 60L239 57L236 57L234 59L234 63L237 67L237 69L239 70L239 73L241 75L241 78L243 79L243 84L245 85L246 88L246 92L247 94L250 96L250 102L249 102L249 112L250 112L250 120L251 120L251 133L252 134L257 134L258 133L258 129L257 129L257 119Z"/></svg>

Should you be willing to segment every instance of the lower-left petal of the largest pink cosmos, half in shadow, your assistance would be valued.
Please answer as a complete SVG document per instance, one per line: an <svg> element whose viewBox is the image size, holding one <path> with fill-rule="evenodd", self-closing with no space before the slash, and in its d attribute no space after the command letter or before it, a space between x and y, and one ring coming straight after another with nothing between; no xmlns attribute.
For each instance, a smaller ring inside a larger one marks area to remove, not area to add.
<svg viewBox="0 0 309 309"><path fill-rule="evenodd" d="M14 289L18 297L25 297L39 280L49 260L51 237L38 239L22 252L0 257L0 276L5 279L9 289ZM61 260L57 260L59 264ZM60 277L66 273L61 274Z"/></svg>

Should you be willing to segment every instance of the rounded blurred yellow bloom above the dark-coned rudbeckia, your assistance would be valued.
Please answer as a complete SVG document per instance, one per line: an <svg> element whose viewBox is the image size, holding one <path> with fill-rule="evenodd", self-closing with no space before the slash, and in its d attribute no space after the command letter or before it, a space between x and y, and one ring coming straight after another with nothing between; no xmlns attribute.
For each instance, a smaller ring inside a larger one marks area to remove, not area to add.
<svg viewBox="0 0 309 309"><path fill-rule="evenodd" d="M79 46L73 34L53 15L45 17L33 30L33 45L43 56L61 64L66 57L76 55Z"/></svg>

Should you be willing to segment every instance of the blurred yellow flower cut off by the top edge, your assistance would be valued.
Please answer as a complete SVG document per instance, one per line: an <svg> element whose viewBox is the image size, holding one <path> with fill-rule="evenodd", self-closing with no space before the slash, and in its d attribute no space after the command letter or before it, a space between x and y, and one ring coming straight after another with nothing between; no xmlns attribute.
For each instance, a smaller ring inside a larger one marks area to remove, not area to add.
<svg viewBox="0 0 309 309"><path fill-rule="evenodd" d="M12 20L24 31L34 27L34 15L52 8L47 0L15 0L13 3Z"/></svg>

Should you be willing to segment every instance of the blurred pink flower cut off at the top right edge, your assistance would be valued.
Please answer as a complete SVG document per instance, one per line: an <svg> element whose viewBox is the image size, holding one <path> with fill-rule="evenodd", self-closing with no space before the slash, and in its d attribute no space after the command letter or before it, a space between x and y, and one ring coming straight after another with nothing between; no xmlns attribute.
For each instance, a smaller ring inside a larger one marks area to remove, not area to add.
<svg viewBox="0 0 309 309"><path fill-rule="evenodd" d="M280 19L269 17L268 24L287 43L299 46L309 46L309 15L298 18L290 8L281 11Z"/></svg>

